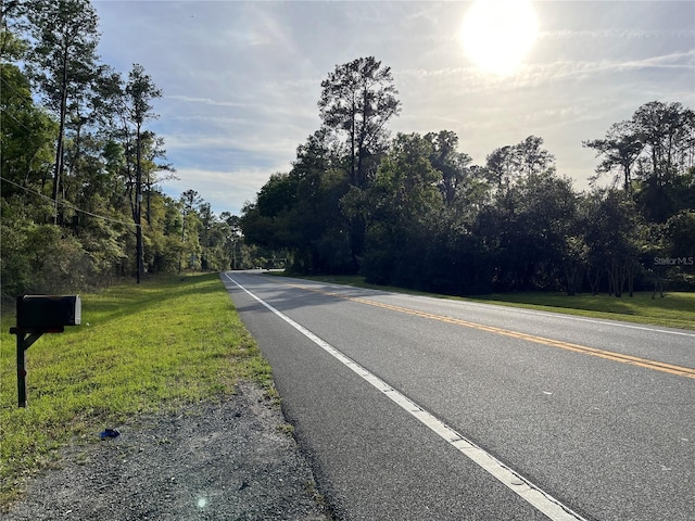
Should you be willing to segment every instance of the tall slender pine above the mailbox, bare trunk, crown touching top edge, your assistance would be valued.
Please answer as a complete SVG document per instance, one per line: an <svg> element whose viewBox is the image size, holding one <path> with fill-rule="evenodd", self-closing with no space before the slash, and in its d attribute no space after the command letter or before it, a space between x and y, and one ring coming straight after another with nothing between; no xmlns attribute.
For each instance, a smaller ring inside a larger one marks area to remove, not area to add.
<svg viewBox="0 0 695 521"><path fill-rule="evenodd" d="M58 114L53 173L54 220L64 166L68 102L91 88L99 43L97 12L88 0L31 0L27 4L34 48L29 67L47 105Z"/></svg>

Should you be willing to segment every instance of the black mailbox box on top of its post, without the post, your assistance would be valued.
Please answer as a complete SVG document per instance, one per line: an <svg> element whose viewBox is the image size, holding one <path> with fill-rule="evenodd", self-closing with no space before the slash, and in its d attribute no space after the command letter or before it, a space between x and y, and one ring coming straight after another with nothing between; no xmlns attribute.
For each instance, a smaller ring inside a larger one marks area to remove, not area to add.
<svg viewBox="0 0 695 521"><path fill-rule="evenodd" d="M17 328L24 331L63 331L65 326L79 326L79 295L23 295L17 298Z"/></svg>

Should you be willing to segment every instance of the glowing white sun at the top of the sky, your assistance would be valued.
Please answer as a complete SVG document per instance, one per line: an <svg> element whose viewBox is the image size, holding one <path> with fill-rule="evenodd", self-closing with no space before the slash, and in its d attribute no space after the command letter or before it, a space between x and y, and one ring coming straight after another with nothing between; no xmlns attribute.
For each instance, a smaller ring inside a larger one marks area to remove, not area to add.
<svg viewBox="0 0 695 521"><path fill-rule="evenodd" d="M523 63L538 33L530 0L476 0L466 13L459 38L479 67L506 76Z"/></svg>

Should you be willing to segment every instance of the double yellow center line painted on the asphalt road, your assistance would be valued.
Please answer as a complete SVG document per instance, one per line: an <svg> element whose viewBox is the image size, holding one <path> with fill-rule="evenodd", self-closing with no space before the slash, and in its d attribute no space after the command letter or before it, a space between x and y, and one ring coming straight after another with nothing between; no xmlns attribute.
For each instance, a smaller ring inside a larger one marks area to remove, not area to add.
<svg viewBox="0 0 695 521"><path fill-rule="evenodd" d="M333 293L330 291L318 290L307 285L301 284L288 284L293 288L299 288L305 291L312 291L314 293L320 293L324 295L336 296L346 301L357 302L359 304L366 304L368 306L380 307L382 309L390 309L393 312L405 313L417 317L428 318L430 320L438 320L440 322L454 323L456 326L464 326L466 328L476 329L479 331L486 331L494 334L502 334L504 336L510 336L513 339L526 340L528 342L534 342L536 344L549 345L552 347L558 347L560 350L572 351L574 353L583 353L585 355L597 356L607 360L620 361L622 364L630 364L645 369L653 369L655 371L668 372L669 374L675 374L685 378L695 378L695 369L690 367L675 366L672 364L666 364L662 361L649 360L648 358L640 358L637 356L623 355L621 353L615 353L611 351L598 350L596 347L589 347L586 345L573 344L571 342L564 342L561 340L546 339L538 336L535 334L521 333L519 331L511 331L508 329L496 328L494 326L485 326L482 323L470 322L468 320L462 320L459 318L446 317L443 315L434 315L432 313L419 312L417 309L410 309L407 307L394 306L391 304L384 304L377 301L370 301L357 296L343 295L340 293Z"/></svg>

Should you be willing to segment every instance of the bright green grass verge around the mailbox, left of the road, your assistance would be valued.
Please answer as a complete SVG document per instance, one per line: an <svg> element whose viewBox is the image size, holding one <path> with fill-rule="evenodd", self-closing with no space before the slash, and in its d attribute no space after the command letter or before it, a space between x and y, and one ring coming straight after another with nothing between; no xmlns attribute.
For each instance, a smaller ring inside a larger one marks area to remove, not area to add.
<svg viewBox="0 0 695 521"><path fill-rule="evenodd" d="M240 379L271 390L270 367L217 274L80 296L83 325L45 334L26 352L25 409L16 404L14 314L3 314L0 507L71 440L98 440L103 428L137 415L219 399Z"/></svg>

